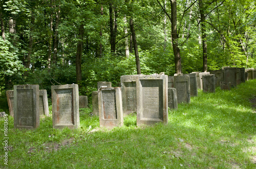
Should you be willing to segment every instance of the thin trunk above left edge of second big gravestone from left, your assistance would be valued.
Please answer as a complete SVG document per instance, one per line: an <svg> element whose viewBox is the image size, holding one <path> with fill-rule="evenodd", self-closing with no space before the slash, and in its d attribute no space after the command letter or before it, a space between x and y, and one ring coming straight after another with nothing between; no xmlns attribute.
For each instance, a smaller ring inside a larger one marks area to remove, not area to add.
<svg viewBox="0 0 256 169"><path fill-rule="evenodd" d="M54 35L54 49L53 49L53 57L52 63L56 65L57 63L57 51L58 51L58 26L59 26L59 15L60 15L60 5L56 8L56 24L55 24L55 35Z"/></svg>

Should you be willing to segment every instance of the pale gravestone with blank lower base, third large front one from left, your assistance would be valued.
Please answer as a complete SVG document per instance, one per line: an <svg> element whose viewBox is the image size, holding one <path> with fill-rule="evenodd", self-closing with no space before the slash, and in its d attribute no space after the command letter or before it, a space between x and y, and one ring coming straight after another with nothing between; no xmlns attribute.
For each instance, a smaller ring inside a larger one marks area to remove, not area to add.
<svg viewBox="0 0 256 169"><path fill-rule="evenodd" d="M98 90L99 125L112 128L123 125L121 89L101 88Z"/></svg>

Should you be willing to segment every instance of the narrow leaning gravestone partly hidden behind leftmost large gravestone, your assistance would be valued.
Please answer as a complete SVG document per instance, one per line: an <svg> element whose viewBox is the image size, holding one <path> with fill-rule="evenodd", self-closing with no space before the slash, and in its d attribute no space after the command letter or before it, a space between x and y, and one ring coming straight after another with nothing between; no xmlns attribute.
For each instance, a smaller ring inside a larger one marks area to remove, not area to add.
<svg viewBox="0 0 256 169"><path fill-rule="evenodd" d="M48 98L46 90L39 90L39 115L49 116Z"/></svg>

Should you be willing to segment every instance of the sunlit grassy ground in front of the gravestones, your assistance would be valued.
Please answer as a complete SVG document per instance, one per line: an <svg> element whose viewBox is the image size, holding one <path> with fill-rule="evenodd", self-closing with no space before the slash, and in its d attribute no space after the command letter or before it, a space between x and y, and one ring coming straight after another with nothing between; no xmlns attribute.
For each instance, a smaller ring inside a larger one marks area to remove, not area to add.
<svg viewBox="0 0 256 169"><path fill-rule="evenodd" d="M8 166L0 168L256 168L256 80L231 91L199 91L190 104L169 110L168 125L99 128L90 109L80 114L80 129L53 129L52 118L34 131L13 129L8 117ZM4 119L0 121L4 138ZM2 140L4 147L4 139Z"/></svg>

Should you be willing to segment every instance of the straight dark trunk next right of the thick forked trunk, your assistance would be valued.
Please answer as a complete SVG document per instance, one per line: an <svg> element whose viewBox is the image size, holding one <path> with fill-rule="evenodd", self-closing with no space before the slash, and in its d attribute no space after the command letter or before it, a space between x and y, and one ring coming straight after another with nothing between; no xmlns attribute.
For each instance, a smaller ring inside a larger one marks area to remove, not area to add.
<svg viewBox="0 0 256 169"><path fill-rule="evenodd" d="M203 44L203 72L207 72L207 43L206 43L206 26L203 1L199 0L199 11L201 16L201 31L202 31L202 44Z"/></svg>

